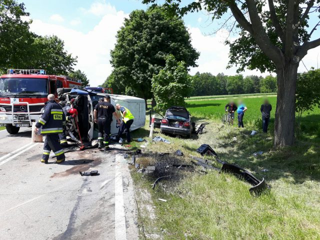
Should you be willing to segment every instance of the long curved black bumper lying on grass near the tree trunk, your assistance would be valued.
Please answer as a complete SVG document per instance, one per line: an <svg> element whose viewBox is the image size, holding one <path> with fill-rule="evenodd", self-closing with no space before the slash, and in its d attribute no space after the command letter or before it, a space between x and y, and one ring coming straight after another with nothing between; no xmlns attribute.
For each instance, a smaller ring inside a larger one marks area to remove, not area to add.
<svg viewBox="0 0 320 240"><path fill-rule="evenodd" d="M259 195L262 193L265 189L270 189L270 187L265 183L264 178L262 177L262 180L260 181L255 176L253 176L250 172L243 169L242 167L239 167L237 165L224 162L221 167L222 172L227 172L230 174L235 175L239 179L243 179L253 185L249 191L250 193L255 193L256 195Z"/></svg>

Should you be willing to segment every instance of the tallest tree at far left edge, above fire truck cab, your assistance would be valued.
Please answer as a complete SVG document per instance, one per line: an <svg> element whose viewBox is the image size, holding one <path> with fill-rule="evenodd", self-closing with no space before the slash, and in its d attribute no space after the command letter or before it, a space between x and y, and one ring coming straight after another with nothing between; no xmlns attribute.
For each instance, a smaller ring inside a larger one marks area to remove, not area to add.
<svg viewBox="0 0 320 240"><path fill-rule="evenodd" d="M30 55L33 34L29 31L29 21L24 4L16 0L0 0L0 69L24 68Z"/></svg>

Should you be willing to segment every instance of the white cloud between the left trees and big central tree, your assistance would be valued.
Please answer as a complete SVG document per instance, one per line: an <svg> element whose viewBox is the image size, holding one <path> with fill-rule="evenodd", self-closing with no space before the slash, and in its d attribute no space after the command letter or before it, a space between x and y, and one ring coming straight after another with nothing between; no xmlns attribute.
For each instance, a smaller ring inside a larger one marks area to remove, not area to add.
<svg viewBox="0 0 320 240"><path fill-rule="evenodd" d="M63 39L65 49L73 56L78 56L75 69L84 71L91 86L96 86L103 83L112 71L110 50L114 47L115 35L124 17L127 14L123 11L108 13L87 33L38 19L33 19L30 29L40 35L55 34Z"/></svg>

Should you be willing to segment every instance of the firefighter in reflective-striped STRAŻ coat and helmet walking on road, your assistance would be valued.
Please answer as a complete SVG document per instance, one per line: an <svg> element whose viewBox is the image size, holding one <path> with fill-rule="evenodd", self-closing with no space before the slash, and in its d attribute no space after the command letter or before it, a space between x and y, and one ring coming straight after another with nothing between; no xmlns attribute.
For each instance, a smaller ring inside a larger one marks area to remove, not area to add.
<svg viewBox="0 0 320 240"><path fill-rule="evenodd" d="M41 134L46 135L43 145L43 155L41 162L47 163L50 151L52 150L56 155L56 163L65 160L63 149L59 143L59 133L63 131L65 124L65 115L62 107L55 102L53 94L48 95L48 101L44 106L43 113L35 124L36 130L41 128Z"/></svg>

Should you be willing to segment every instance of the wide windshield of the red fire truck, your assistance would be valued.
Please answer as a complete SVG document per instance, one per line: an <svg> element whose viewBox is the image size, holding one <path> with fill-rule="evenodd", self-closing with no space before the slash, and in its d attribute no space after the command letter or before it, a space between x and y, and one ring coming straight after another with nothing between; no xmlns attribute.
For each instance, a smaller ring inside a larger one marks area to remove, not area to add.
<svg viewBox="0 0 320 240"><path fill-rule="evenodd" d="M1 95L39 94L48 93L46 78L1 78Z"/></svg>

